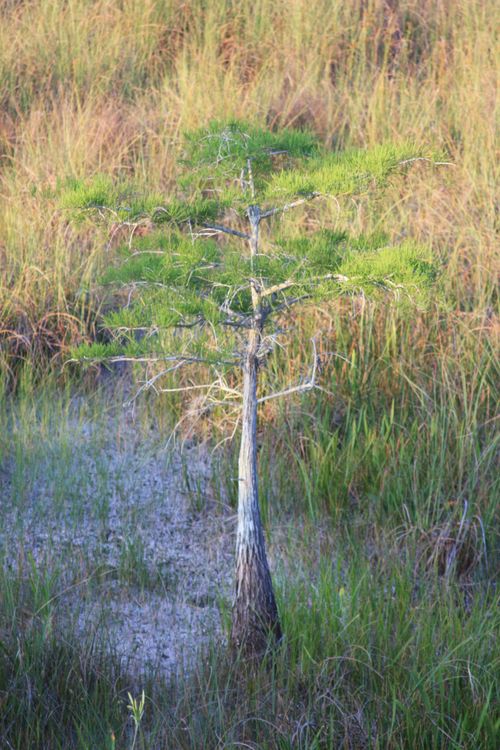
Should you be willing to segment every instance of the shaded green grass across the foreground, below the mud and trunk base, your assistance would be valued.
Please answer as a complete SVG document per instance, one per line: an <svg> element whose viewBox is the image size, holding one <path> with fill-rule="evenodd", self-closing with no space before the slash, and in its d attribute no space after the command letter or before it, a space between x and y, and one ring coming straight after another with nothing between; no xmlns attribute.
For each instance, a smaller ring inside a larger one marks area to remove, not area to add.
<svg viewBox="0 0 500 750"><path fill-rule="evenodd" d="M138 682L99 647L57 628L62 571L3 572L0 740L5 747L133 747L127 694L144 689L137 747L496 747L498 596L415 575L385 544L379 559L309 542L277 571L286 641L257 671L212 651L188 675ZM325 540L331 543L332 540ZM291 551L290 549L290 551Z"/></svg>

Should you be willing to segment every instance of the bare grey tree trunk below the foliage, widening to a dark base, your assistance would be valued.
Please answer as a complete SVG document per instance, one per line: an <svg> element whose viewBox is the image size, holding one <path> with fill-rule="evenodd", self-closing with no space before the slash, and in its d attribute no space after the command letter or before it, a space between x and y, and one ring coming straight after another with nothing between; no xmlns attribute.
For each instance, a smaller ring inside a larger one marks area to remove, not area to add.
<svg viewBox="0 0 500 750"><path fill-rule="evenodd" d="M243 414L238 471L236 591L232 645L247 655L265 652L270 636L281 638L266 557L257 486L257 352L260 331L249 333L243 369Z"/></svg>

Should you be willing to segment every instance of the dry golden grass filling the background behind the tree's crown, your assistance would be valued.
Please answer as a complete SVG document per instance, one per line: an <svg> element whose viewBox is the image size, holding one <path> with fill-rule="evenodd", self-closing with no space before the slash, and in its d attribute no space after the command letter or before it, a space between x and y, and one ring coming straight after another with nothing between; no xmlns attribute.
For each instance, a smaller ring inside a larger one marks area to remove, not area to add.
<svg viewBox="0 0 500 750"><path fill-rule="evenodd" d="M4 1L0 13L7 350L57 353L92 320L78 292L103 238L69 229L57 182L126 172L167 195L179 133L229 116L308 126L334 146L444 148L454 167L415 170L377 215L361 204L350 221L431 242L456 308L491 319L494 0Z"/></svg>

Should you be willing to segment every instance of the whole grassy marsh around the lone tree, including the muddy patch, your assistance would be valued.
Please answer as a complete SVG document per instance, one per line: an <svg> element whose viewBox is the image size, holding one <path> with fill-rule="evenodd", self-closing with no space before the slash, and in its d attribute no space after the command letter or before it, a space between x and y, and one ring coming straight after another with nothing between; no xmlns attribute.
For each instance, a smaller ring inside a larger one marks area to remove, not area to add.
<svg viewBox="0 0 500 750"><path fill-rule="evenodd" d="M495 4L0 13L0 745L496 747ZM181 134L233 119L453 163L287 216L290 241L411 240L438 273L410 311L294 314L269 357L262 387L300 382L321 331L325 391L260 406L285 639L251 672L225 648L235 422L190 392L124 408L139 369L67 364L107 340L120 248L162 241L148 211L178 195ZM134 186L136 226L71 219L62 196L96 180Z"/></svg>

